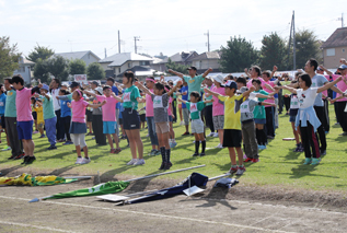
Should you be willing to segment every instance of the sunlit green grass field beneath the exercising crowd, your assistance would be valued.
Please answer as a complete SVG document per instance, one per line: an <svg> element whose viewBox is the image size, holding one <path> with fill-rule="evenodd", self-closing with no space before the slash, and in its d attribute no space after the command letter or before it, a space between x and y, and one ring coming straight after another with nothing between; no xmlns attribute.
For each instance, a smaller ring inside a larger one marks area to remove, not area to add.
<svg viewBox="0 0 347 233"><path fill-rule="evenodd" d="M317 166L302 165L303 153L294 153L294 141L282 141L282 138L292 138L292 131L289 123L289 116L280 115L279 129L276 130L276 139L269 141L267 149L259 153L261 162L256 164L246 164L246 172L239 179L246 185L258 186L279 186L286 188L299 188L310 190L334 190L346 191L347 182L347 137L338 136L342 132L334 116L334 108L329 108L331 132L327 135L327 154L322 159ZM209 177L221 175L230 168L230 159L228 149L215 149L218 144L218 138L207 138L207 155L204 158L193 158L194 137L181 135L184 132L184 126L174 125L177 147L172 150L172 170L178 170L199 164L206 164L206 167L195 170ZM209 130L207 131L209 133ZM147 129L141 130L141 137L144 144L146 165L128 166L126 163L131 159L130 149L127 148L126 140L120 141L123 151L119 154L109 154L109 147L95 145L92 137L86 137L86 144L90 150L92 162L86 165L76 165L77 154L72 152L74 145L62 145L58 143L57 150L48 151L47 138L38 139L38 133L34 135L36 161L30 167L22 168L21 161L9 161L10 152L0 152L0 171L35 174L89 174L96 175L100 172L101 178L119 178L122 176L140 177L144 175L160 173L161 156L149 156L151 150L150 139L147 137ZM2 133L2 147L4 147L4 133ZM0 148L2 148L0 145ZM183 179L193 171L175 173L161 176L165 179Z"/></svg>

